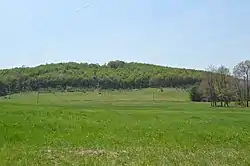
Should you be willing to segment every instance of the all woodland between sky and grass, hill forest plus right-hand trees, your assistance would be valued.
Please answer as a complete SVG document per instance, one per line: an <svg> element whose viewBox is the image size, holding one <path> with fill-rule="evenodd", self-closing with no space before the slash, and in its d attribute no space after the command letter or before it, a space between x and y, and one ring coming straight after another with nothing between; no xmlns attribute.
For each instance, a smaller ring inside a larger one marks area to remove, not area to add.
<svg viewBox="0 0 250 166"><path fill-rule="evenodd" d="M174 87L190 89L192 101L209 101L212 106L237 101L248 107L249 79L248 60L238 63L232 72L223 65L201 71L119 60L104 65L68 62L0 70L0 96L42 90Z"/></svg>

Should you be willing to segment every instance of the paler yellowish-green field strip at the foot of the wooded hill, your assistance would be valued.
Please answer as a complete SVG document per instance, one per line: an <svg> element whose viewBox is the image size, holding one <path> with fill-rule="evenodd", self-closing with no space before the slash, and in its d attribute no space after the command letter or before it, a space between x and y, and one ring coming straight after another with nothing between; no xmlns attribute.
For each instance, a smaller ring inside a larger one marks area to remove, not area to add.
<svg viewBox="0 0 250 166"><path fill-rule="evenodd" d="M36 103L37 93L19 93L11 95L10 102ZM145 101L189 101L189 95L184 90L180 89L164 89L160 92L159 89L142 89L131 91L102 91L100 94L95 92L72 92L72 93L40 93L39 103L52 104L77 104L86 101L130 101L130 102L145 102Z"/></svg>

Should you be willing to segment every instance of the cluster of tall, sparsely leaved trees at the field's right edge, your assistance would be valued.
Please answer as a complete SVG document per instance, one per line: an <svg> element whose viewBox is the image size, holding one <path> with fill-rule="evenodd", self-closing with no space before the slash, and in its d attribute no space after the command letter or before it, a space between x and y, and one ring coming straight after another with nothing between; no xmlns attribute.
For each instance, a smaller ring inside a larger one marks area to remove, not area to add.
<svg viewBox="0 0 250 166"><path fill-rule="evenodd" d="M249 107L250 61L242 61L233 71L221 65L209 66L201 81L190 90L192 101L209 101L211 106L229 107L231 101Z"/></svg>

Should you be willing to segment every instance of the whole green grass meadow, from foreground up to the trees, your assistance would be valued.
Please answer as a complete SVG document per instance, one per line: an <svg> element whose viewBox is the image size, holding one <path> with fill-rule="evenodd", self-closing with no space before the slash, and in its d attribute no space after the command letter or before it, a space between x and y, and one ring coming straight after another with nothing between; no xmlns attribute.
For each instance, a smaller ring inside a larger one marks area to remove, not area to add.
<svg viewBox="0 0 250 166"><path fill-rule="evenodd" d="M247 109L171 89L36 96L0 99L0 165L250 165Z"/></svg>

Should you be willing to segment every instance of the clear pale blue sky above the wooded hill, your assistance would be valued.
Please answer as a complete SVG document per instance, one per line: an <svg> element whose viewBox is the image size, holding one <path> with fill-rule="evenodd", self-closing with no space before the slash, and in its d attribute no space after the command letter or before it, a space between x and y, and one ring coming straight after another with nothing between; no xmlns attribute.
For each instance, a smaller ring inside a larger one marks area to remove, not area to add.
<svg viewBox="0 0 250 166"><path fill-rule="evenodd" d="M0 20L0 68L116 59L232 68L250 59L249 0L2 0Z"/></svg>

